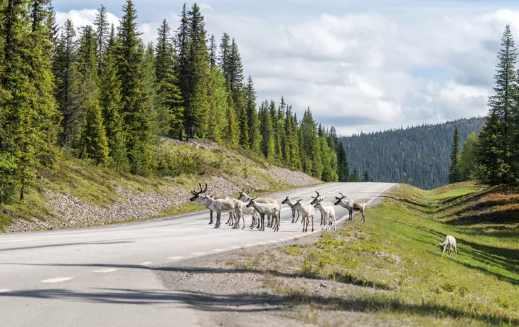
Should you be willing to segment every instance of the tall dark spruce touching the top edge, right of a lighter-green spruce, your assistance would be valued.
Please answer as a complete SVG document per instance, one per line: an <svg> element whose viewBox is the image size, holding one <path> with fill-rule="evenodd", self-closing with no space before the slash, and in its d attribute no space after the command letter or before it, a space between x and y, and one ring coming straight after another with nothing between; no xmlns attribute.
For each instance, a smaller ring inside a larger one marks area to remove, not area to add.
<svg viewBox="0 0 519 327"><path fill-rule="evenodd" d="M144 49L137 38L137 12L132 0L127 0L123 11L118 27L117 77L122 85L124 133L132 173L147 175L151 168L151 122L143 90Z"/></svg>

